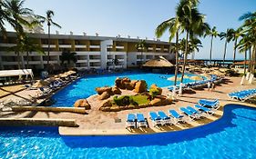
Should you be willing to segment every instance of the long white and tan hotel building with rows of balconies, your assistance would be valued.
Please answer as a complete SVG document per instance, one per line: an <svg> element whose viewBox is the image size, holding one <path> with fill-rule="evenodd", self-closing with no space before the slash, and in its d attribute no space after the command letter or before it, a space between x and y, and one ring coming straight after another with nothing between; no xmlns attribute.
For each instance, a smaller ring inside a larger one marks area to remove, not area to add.
<svg viewBox="0 0 256 159"><path fill-rule="evenodd" d="M42 46L46 55L36 52L29 54L29 67L32 69L44 69L47 64L48 40L46 34L28 34L36 43ZM159 55L173 60L175 55L169 53L169 43L159 40L146 40L147 48L143 53L136 49L136 44L141 41L138 38L90 36L90 35L51 35L50 61L52 65L60 65L60 55L64 50L77 53L75 67L82 69L107 69L136 67ZM14 46L16 35L7 33L7 39L0 36L0 69L17 69L17 55L9 52L8 47ZM26 67L26 53L21 54L21 67ZM118 65L113 65L113 60L118 59Z"/></svg>

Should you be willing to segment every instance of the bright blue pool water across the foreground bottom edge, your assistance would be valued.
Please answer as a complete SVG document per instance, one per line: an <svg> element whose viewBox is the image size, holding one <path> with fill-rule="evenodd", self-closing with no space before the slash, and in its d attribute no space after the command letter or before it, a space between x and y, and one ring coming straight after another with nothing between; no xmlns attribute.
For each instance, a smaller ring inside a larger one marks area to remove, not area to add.
<svg viewBox="0 0 256 159"><path fill-rule="evenodd" d="M235 104L216 122L173 133L67 137L0 127L0 158L256 158L255 130L256 109Z"/></svg>

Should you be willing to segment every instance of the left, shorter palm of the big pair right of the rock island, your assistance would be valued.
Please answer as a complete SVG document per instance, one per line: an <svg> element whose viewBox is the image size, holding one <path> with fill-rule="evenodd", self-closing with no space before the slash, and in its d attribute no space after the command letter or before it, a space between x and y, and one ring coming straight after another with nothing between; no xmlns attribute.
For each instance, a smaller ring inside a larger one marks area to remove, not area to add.
<svg viewBox="0 0 256 159"><path fill-rule="evenodd" d="M156 29L155 35L159 38L169 30L169 52L173 48L175 50L175 77L174 77L174 86L177 84L177 75L179 71L179 30L181 29L180 27L180 22L179 22L179 17L173 17L170 18L169 20L166 20L162 22ZM176 43L175 45L171 45L170 42L171 40L176 36ZM173 94L176 93L176 90L173 89Z"/></svg>

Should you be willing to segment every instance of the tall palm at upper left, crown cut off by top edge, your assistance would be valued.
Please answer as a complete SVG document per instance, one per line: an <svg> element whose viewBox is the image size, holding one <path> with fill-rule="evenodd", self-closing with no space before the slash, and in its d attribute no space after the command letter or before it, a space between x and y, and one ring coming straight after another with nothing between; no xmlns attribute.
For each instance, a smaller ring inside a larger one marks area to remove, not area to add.
<svg viewBox="0 0 256 159"><path fill-rule="evenodd" d="M22 25L30 25L30 23L27 22L24 17L28 15L34 15L31 9L23 7L24 2L24 0L5 1L7 15L10 15L9 23L15 28L15 32L17 35L16 47L15 49L13 49L15 50L15 54L17 55L18 69L20 69L20 51L18 48L22 47L21 40L24 38L25 35Z"/></svg>

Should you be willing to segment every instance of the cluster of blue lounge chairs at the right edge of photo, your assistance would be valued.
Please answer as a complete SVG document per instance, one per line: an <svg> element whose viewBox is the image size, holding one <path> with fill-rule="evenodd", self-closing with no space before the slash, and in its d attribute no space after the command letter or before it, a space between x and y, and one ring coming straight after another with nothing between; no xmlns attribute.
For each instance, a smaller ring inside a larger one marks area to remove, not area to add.
<svg viewBox="0 0 256 159"><path fill-rule="evenodd" d="M230 93L228 95L232 99L237 99L237 100L244 102L244 101L256 96L256 89L237 91L237 92Z"/></svg>

